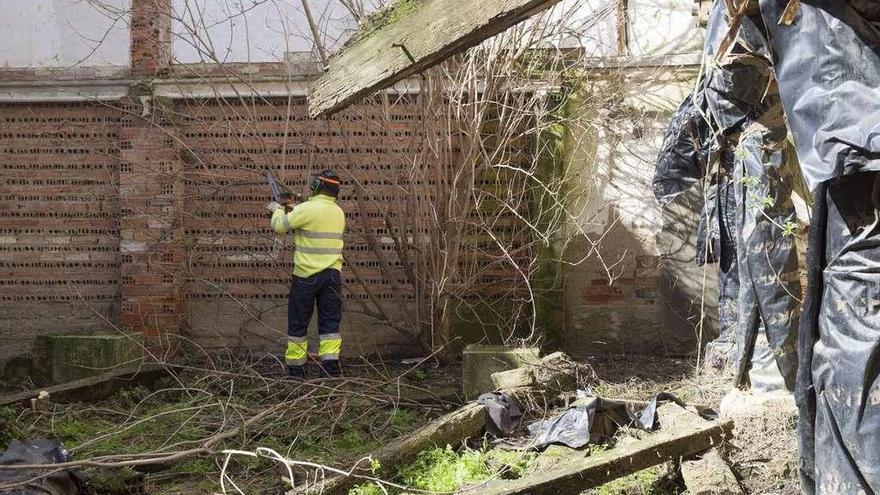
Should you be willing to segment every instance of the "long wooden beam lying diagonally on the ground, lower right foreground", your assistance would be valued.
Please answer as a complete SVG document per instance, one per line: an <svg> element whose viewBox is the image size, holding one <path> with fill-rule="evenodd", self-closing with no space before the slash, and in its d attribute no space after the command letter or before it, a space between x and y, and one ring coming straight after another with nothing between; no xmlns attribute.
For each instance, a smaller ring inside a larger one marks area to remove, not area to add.
<svg viewBox="0 0 880 495"><path fill-rule="evenodd" d="M636 471L711 449L733 431L733 422L730 420L706 421L675 404L660 406L657 414L661 421L660 430L643 440L583 459L574 459L550 471L512 481L490 482L478 492L471 493L575 495Z"/></svg>

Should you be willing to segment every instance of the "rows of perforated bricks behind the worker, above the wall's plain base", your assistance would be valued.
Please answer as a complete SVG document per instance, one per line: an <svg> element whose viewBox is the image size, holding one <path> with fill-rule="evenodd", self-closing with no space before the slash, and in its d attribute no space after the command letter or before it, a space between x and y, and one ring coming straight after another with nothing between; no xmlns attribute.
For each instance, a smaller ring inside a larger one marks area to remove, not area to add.
<svg viewBox="0 0 880 495"><path fill-rule="evenodd" d="M375 202L402 198L386 186L383 173L406 167L406 157L389 140L366 130L368 126L360 121L369 118L367 107L348 114L348 127L365 129L351 133L350 129L340 132L337 122L309 120L303 99L292 102L288 125L286 103L286 99L247 105L208 101L178 107L184 115L181 142L196 157L186 165L184 225L193 277L187 284L187 299L223 297L218 287L234 297L285 299L292 253L289 241L280 242L268 230L265 173L272 171L288 187L305 193L311 175L324 168L334 169L346 182L339 198L348 222L346 263L369 280L379 299L399 297L391 285L407 281L393 255L393 244L383 244L382 249L386 261L396 264L397 279L384 280L359 231L385 233ZM401 119L412 116L406 105L393 111ZM371 205L363 212L354 181L363 187L361 199ZM343 282L349 288L346 299L363 296L350 274L344 274Z"/></svg>

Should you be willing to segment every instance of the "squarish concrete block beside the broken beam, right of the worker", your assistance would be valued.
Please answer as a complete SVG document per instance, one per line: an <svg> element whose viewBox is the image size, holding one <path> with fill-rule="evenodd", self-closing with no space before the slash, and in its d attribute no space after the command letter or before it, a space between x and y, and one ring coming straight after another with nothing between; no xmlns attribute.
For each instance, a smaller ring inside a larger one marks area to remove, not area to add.
<svg viewBox="0 0 880 495"><path fill-rule="evenodd" d="M469 345L462 353L462 392L468 400L495 390L492 373L540 361L537 347Z"/></svg>

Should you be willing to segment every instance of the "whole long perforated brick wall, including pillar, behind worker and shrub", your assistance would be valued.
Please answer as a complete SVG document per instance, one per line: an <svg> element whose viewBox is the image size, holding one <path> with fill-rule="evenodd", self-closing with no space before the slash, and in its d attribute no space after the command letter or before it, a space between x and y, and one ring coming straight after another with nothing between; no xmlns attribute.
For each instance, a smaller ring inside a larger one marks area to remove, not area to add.
<svg viewBox="0 0 880 495"><path fill-rule="evenodd" d="M133 96L108 105L0 107L0 170L8 186L0 203L0 325L25 329L14 353L26 352L39 332L108 322L147 334L182 332L210 348L279 351L292 251L289 237L269 228L265 172L306 192L310 176L324 168L345 182L345 353L412 348L413 341L365 316L362 304L411 310L414 292L389 235L396 227L385 217L396 221L407 211L400 205L412 200L396 187L400 181L414 181L417 214L428 216L437 190L418 186L444 180L430 163L407 178L419 115L412 98L321 120L307 118L303 98L142 105ZM507 180L487 175L480 185ZM517 235L509 217L495 225L497 236ZM420 225L408 235L435 234L431 222ZM488 237L471 234L465 262L500 257ZM462 296L474 301L510 291L520 279L507 262L472 275L479 296Z"/></svg>

